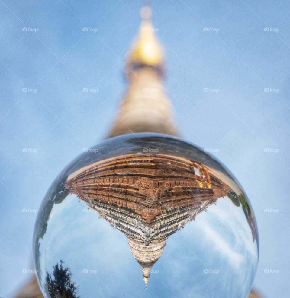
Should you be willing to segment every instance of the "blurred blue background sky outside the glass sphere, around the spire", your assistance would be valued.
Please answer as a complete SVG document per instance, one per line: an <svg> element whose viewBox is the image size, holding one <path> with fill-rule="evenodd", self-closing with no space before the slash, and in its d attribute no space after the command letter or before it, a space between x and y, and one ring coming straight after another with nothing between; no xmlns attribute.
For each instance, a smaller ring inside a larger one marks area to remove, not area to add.
<svg viewBox="0 0 290 298"><path fill-rule="evenodd" d="M115 119L140 3L1 0L0 9L5 297L32 266L33 210L56 175ZM215 150L250 198L260 238L254 284L267 297L290 293L289 12L289 1L153 1L153 27L166 50L164 84L179 130ZM85 87L98 92L82 92Z"/></svg>

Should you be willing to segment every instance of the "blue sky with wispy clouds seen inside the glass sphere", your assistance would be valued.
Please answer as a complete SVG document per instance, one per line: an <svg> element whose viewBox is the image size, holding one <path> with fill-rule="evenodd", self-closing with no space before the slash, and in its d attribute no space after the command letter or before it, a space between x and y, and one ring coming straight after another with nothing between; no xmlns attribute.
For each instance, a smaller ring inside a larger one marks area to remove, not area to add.
<svg viewBox="0 0 290 298"><path fill-rule="evenodd" d="M64 260L82 297L207 297L213 292L216 297L239 297L249 291L257 246L242 208L230 199L218 199L208 212L169 236L147 291L128 239L87 208L75 195L54 205L40 240L37 269L42 281L46 271L52 273ZM210 269L217 273L204 272Z"/></svg>

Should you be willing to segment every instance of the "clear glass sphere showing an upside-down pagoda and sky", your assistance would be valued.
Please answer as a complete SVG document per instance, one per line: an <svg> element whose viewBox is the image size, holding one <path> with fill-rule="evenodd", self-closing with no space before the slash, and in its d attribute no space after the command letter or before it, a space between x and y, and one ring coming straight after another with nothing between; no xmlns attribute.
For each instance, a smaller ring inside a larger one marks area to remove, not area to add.
<svg viewBox="0 0 290 298"><path fill-rule="evenodd" d="M123 135L73 160L34 230L45 297L247 297L258 262L247 196L207 152Z"/></svg>

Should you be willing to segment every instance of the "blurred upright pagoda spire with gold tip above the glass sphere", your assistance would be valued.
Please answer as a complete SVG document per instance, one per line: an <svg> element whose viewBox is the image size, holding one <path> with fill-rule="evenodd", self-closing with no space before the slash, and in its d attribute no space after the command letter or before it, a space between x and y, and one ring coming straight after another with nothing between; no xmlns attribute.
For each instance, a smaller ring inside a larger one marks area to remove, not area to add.
<svg viewBox="0 0 290 298"><path fill-rule="evenodd" d="M163 48L156 37L158 28L152 25L152 9L143 6L140 15L139 33L126 55L127 91L106 138L137 132L178 135L173 108L162 84Z"/></svg>

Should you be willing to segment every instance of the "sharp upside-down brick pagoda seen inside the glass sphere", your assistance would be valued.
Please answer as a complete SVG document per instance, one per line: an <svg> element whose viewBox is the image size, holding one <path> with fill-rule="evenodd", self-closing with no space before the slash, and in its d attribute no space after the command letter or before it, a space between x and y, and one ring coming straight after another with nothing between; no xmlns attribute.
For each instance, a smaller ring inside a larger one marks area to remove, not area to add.
<svg viewBox="0 0 290 298"><path fill-rule="evenodd" d="M124 233L146 284L166 239L231 190L202 164L162 154L99 161L65 188Z"/></svg>

